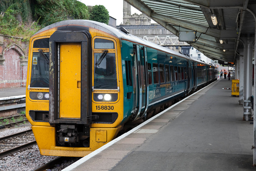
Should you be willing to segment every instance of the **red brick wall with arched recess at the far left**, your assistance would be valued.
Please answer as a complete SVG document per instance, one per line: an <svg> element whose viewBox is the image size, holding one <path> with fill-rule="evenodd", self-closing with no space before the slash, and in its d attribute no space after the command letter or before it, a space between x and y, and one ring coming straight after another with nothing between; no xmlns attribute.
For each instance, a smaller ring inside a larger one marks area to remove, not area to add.
<svg viewBox="0 0 256 171"><path fill-rule="evenodd" d="M27 59L28 42L0 35L0 89L26 86Z"/></svg>

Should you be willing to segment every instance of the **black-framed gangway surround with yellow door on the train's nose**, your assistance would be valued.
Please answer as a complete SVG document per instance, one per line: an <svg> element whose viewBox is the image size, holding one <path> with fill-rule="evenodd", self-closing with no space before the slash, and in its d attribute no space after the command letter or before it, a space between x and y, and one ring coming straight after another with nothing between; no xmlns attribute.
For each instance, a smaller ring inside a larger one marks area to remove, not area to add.
<svg viewBox="0 0 256 171"><path fill-rule="evenodd" d="M90 122L90 39L89 31L55 31L50 37L50 124Z"/></svg>

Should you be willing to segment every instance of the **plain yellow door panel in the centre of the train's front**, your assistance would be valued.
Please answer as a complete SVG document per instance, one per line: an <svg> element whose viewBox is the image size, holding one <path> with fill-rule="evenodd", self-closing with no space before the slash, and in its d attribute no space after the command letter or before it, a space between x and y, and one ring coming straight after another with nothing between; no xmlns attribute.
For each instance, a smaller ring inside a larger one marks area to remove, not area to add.
<svg viewBox="0 0 256 171"><path fill-rule="evenodd" d="M59 118L80 118L81 44L61 43L59 54Z"/></svg>

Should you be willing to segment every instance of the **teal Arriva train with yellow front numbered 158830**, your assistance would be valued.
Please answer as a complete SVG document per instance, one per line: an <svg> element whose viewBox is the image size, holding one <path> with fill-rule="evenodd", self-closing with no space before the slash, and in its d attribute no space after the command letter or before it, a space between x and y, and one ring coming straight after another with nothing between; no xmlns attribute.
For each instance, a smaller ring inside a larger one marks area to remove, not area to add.
<svg viewBox="0 0 256 171"><path fill-rule="evenodd" d="M41 155L83 157L217 77L123 27L60 21L30 38L26 117Z"/></svg>

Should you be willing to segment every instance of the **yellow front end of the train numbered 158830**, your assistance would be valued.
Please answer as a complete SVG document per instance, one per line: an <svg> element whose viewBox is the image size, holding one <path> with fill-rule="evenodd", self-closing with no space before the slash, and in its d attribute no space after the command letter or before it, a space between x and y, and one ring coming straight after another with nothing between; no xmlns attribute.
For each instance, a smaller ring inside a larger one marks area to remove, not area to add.
<svg viewBox="0 0 256 171"><path fill-rule="evenodd" d="M26 116L42 155L85 156L122 128L120 35L105 27L61 21L30 38Z"/></svg>

